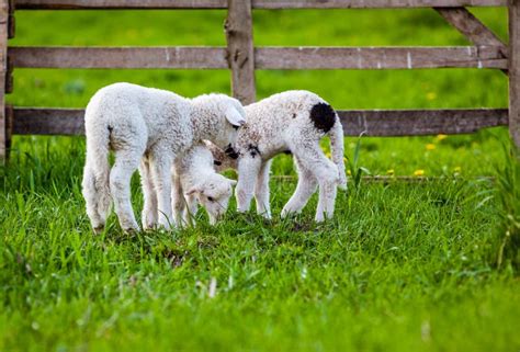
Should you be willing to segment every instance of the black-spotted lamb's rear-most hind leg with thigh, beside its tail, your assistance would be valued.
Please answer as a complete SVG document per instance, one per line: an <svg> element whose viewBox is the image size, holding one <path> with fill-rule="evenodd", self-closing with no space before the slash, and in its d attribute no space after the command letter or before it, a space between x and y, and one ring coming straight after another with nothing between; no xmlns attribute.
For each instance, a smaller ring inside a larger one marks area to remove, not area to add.
<svg viewBox="0 0 520 352"><path fill-rule="evenodd" d="M298 144L294 155L298 162L313 173L319 185L318 207L316 209L316 222L323 222L325 217L332 217L338 186L338 168L327 159L319 147L318 141L306 140Z"/></svg>

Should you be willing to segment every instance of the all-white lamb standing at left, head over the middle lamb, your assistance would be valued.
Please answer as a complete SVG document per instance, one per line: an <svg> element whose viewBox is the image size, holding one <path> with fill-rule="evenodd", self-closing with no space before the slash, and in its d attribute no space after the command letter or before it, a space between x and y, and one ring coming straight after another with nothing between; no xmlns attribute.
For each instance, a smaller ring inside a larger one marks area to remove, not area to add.
<svg viewBox="0 0 520 352"><path fill-rule="evenodd" d="M144 228L172 223L171 167L194 144L208 139L225 148L245 123L240 102L224 94L185 99L169 91L129 83L99 90L86 115L87 161L83 196L94 231L103 229L111 197L121 227L138 230L129 181L139 168ZM109 152L115 161L110 168ZM139 164L140 163L140 164Z"/></svg>

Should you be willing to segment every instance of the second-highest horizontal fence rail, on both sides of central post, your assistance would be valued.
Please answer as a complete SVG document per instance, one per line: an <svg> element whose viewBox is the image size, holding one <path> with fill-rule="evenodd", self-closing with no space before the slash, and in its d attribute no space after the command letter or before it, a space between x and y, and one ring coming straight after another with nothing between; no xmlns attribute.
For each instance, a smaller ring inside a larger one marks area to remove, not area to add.
<svg viewBox="0 0 520 352"><path fill-rule="evenodd" d="M228 68L223 47L10 47L19 68ZM238 65L251 63L237 61ZM500 47L259 47L257 69L506 69ZM250 68L249 71L250 73ZM245 78L244 78L245 79Z"/></svg>

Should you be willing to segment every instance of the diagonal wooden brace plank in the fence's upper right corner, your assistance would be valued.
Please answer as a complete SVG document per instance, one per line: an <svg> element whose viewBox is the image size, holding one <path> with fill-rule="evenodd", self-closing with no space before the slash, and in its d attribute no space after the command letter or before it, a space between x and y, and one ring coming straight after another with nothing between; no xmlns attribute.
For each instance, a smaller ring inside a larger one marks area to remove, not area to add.
<svg viewBox="0 0 520 352"><path fill-rule="evenodd" d="M506 44L467 9L436 8L434 10L474 45L500 46L504 57L507 57Z"/></svg>

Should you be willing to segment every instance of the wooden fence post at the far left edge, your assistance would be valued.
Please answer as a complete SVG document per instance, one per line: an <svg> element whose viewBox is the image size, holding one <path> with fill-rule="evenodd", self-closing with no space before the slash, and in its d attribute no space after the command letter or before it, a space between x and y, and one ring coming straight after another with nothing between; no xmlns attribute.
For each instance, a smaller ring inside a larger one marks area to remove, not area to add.
<svg viewBox="0 0 520 352"><path fill-rule="evenodd" d="M9 0L0 0L0 162L8 154L5 77L8 69Z"/></svg>

